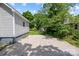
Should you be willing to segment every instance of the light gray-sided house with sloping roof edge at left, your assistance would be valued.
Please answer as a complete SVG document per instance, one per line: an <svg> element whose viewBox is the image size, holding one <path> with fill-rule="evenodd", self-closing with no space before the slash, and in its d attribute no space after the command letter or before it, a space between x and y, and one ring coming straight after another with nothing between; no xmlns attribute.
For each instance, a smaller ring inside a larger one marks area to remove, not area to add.
<svg viewBox="0 0 79 59"><path fill-rule="evenodd" d="M8 4L0 3L0 43L10 43L29 32L29 21Z"/></svg>

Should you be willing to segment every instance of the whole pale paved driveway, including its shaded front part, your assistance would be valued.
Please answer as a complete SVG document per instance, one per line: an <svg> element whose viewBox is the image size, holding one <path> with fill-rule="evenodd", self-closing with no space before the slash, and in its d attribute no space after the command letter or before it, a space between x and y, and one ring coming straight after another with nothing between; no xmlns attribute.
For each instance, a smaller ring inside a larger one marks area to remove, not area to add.
<svg viewBox="0 0 79 59"><path fill-rule="evenodd" d="M30 35L0 51L4 56L79 56L79 48L44 35Z"/></svg>

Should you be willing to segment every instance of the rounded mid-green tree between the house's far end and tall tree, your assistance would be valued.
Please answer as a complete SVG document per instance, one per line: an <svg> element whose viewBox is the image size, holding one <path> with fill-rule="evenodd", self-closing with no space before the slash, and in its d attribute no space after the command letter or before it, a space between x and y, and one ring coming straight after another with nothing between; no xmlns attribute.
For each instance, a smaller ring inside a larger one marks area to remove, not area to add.
<svg viewBox="0 0 79 59"><path fill-rule="evenodd" d="M40 28L44 28L44 26L47 24L48 18L46 15L42 13L37 13L34 15L34 23L35 27L39 30Z"/></svg>

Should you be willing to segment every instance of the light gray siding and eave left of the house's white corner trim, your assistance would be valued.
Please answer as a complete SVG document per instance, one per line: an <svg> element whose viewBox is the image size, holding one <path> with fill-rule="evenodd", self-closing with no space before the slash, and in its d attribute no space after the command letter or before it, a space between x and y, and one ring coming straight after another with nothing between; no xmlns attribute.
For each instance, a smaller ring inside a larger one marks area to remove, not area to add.
<svg viewBox="0 0 79 59"><path fill-rule="evenodd" d="M0 37L13 36L12 11L3 4L0 4Z"/></svg>

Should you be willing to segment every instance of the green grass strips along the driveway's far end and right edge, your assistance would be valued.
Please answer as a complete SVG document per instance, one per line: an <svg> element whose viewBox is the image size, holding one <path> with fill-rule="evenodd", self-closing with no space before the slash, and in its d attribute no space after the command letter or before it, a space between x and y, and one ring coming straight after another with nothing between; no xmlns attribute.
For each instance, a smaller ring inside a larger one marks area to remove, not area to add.
<svg viewBox="0 0 79 59"><path fill-rule="evenodd" d="M52 35L49 35L49 34L44 34L44 33L40 32L38 30L35 30L35 29L30 30L29 31L29 35L47 35L47 36L52 36ZM64 41L67 41L69 44L79 48L79 40L74 40L71 37L65 37Z"/></svg>

